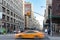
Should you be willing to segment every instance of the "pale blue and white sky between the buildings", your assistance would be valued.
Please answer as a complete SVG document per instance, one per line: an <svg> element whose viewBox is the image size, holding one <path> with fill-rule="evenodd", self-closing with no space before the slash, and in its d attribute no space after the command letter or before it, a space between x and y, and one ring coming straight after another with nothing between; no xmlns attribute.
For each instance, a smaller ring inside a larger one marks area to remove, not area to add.
<svg viewBox="0 0 60 40"><path fill-rule="evenodd" d="M33 11L39 13L35 14L36 19L39 21L40 25L43 25L44 13L46 8L46 0L25 0L26 2L30 2L33 5Z"/></svg>

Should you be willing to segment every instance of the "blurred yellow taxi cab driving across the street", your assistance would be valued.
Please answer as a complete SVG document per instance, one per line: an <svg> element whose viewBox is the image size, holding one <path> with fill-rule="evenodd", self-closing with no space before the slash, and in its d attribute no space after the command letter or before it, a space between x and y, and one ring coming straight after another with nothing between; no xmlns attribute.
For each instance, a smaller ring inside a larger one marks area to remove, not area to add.
<svg viewBox="0 0 60 40"><path fill-rule="evenodd" d="M22 33L15 34L15 38L44 38L44 33L36 30L27 30Z"/></svg>

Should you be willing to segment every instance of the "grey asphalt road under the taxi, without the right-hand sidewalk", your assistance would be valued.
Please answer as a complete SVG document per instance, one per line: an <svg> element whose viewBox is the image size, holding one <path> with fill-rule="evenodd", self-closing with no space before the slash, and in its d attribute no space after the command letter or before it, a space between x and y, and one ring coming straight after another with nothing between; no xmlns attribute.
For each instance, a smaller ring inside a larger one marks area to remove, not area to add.
<svg viewBox="0 0 60 40"><path fill-rule="evenodd" d="M0 35L0 40L49 40L46 36L44 39L15 39L14 34Z"/></svg>

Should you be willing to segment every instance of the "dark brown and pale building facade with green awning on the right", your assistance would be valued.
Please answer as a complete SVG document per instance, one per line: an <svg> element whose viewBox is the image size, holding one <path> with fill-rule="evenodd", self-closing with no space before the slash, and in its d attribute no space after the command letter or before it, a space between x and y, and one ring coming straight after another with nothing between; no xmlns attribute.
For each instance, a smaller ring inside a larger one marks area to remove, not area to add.
<svg viewBox="0 0 60 40"><path fill-rule="evenodd" d="M60 33L60 0L46 0L45 23L52 33Z"/></svg>

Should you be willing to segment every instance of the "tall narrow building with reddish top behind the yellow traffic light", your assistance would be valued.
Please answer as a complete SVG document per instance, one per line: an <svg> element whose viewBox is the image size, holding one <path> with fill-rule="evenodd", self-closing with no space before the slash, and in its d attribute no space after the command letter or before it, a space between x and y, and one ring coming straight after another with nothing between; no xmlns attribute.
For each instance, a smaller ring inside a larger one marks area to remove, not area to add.
<svg viewBox="0 0 60 40"><path fill-rule="evenodd" d="M30 22L30 20L31 20L31 16L32 16L32 4L31 3L29 3L29 2L25 2L25 4L24 4L24 8L25 8L25 15L28 13L28 12L30 12L30 15L29 16L27 16L26 15L26 20L25 20L25 25L26 25L26 27L29 27L29 22ZM30 25L31 26L31 25Z"/></svg>

